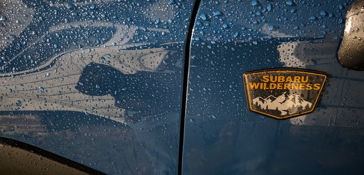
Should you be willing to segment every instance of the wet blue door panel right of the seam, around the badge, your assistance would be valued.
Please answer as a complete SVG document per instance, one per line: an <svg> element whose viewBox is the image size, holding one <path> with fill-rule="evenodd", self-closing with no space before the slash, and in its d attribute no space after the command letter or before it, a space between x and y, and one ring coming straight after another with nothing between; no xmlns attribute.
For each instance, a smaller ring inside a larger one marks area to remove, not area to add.
<svg viewBox="0 0 364 175"><path fill-rule="evenodd" d="M360 174L364 73L337 50L353 1L201 1L191 41L182 174ZM251 113L242 74L329 74L313 113Z"/></svg>

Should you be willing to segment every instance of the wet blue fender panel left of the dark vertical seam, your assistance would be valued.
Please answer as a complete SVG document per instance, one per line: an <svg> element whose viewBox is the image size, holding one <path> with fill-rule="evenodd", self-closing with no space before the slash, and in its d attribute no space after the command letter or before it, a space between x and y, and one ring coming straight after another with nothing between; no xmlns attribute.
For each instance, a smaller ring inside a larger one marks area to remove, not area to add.
<svg viewBox="0 0 364 175"><path fill-rule="evenodd" d="M0 136L107 174L177 174L191 0L0 4Z"/></svg>

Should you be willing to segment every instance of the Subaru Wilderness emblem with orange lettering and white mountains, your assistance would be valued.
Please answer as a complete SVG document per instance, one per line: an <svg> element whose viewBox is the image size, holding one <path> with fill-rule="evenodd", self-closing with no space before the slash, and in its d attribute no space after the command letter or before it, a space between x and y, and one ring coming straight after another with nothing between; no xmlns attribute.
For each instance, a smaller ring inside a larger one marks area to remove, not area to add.
<svg viewBox="0 0 364 175"><path fill-rule="evenodd" d="M244 74L249 110L286 119L314 110L327 74L305 69L269 69Z"/></svg>

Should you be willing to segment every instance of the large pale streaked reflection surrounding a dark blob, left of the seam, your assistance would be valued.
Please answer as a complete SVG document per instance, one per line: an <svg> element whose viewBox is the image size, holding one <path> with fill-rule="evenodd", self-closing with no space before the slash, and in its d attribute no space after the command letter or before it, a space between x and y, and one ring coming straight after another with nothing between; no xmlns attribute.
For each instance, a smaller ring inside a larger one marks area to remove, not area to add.
<svg viewBox="0 0 364 175"><path fill-rule="evenodd" d="M83 68L95 62L111 66L124 74L135 74L138 71L159 72L158 69L161 68L159 65L171 53L165 49L147 49L140 52L119 50L118 46L98 47L92 50L94 52L84 54L84 50L60 54L53 59L56 60L55 64L46 70L34 73L24 72L26 74L20 73L21 76L16 72L16 77L11 78L10 81L3 81L5 86L1 88L1 91L7 95L3 96L0 102L1 110L73 110L112 117L115 121L124 123L121 118L124 110L114 106L116 101L112 96L85 95L75 88L77 84L80 84L78 80ZM142 52L145 53L142 54ZM46 66L47 64L44 65ZM10 76L11 74L8 74L7 77ZM16 86L18 86L17 89L14 88ZM11 92L10 89L12 89ZM32 101L27 99L20 108L16 102L23 101L24 97Z"/></svg>

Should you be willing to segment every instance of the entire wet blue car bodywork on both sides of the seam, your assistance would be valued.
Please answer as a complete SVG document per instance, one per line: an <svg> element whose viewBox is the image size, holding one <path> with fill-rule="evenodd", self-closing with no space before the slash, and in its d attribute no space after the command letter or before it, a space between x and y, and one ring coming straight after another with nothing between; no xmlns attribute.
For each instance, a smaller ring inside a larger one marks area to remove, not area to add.
<svg viewBox="0 0 364 175"><path fill-rule="evenodd" d="M1 3L0 137L107 174L358 174L364 73L337 60L353 2ZM312 113L249 111L243 74L272 68L329 74Z"/></svg>

